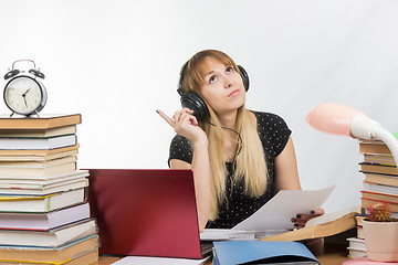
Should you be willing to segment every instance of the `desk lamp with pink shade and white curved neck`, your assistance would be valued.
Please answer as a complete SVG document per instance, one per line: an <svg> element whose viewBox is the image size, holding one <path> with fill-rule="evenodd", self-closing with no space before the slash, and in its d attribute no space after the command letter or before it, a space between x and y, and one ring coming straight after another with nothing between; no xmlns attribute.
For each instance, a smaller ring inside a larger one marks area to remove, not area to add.
<svg viewBox="0 0 398 265"><path fill-rule="evenodd" d="M310 112L306 120L312 127L326 134L381 140L387 145L398 165L397 139L379 123L368 118L362 112L338 104L322 104Z"/></svg>

